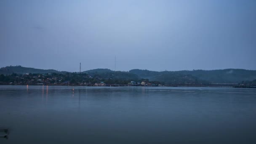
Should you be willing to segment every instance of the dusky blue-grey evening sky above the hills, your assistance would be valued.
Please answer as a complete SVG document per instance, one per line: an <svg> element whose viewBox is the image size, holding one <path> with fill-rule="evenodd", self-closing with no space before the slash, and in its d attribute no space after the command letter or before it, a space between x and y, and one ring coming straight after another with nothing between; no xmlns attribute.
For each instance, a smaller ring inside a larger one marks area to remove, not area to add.
<svg viewBox="0 0 256 144"><path fill-rule="evenodd" d="M0 67L256 69L256 0L0 0Z"/></svg>

